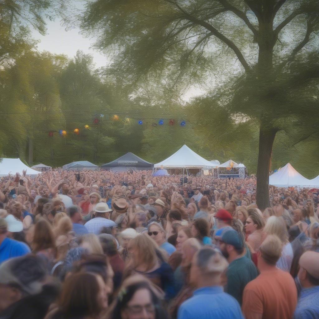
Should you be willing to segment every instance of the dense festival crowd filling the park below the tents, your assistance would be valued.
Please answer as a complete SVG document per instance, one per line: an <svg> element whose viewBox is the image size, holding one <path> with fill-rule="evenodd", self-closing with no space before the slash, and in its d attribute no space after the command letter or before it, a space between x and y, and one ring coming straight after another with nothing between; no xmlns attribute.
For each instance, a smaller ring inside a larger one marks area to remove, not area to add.
<svg viewBox="0 0 319 319"><path fill-rule="evenodd" d="M1 177L0 319L319 318L319 190L182 177Z"/></svg>

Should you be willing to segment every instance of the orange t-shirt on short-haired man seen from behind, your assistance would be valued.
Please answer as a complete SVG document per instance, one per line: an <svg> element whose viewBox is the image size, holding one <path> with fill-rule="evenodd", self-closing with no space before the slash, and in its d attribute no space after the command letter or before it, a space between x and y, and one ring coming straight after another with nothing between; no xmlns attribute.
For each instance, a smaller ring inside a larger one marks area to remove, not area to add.
<svg viewBox="0 0 319 319"><path fill-rule="evenodd" d="M289 272L275 269L261 273L247 284L242 312L263 314L263 319L291 319L297 305L297 288Z"/></svg>

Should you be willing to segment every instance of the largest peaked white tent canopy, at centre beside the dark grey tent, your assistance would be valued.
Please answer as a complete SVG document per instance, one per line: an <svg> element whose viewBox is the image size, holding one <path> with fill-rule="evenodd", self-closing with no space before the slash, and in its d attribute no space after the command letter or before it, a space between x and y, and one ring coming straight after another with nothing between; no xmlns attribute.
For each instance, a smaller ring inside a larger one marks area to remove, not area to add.
<svg viewBox="0 0 319 319"><path fill-rule="evenodd" d="M164 159L160 163L154 164L154 168L204 168L213 167L212 163L196 154L188 146L183 145L176 153Z"/></svg>

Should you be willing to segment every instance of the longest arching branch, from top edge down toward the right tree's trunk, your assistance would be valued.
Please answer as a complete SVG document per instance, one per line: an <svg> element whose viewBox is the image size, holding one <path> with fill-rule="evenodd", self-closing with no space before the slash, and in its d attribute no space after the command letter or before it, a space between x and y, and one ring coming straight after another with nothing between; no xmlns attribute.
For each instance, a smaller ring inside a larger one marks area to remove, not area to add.
<svg viewBox="0 0 319 319"><path fill-rule="evenodd" d="M196 24L198 24L200 26L203 26L208 31L210 31L212 33L212 35L217 37L220 41L224 42L229 48L231 48L234 51L235 55L237 56L238 60L240 61L241 65L243 66L245 71L246 72L250 72L251 71L249 64L246 62L246 60L245 60L244 56L242 55L240 49L235 45L235 43L233 41L229 40L224 34L220 33L216 28L214 28L212 25L210 25L206 21L197 19L196 17L194 17L191 14L189 14L181 6L179 6L176 2L174 2L172 0L164 0L164 1L166 1L166 2L168 2L170 4L173 4L178 10L180 10L181 12L184 13L185 17L189 21L193 21Z"/></svg>

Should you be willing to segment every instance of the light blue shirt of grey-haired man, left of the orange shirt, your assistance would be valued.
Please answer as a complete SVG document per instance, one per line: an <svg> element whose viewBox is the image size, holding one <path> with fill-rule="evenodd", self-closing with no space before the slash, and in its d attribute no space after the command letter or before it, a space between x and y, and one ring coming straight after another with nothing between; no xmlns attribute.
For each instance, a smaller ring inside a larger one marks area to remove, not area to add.
<svg viewBox="0 0 319 319"><path fill-rule="evenodd" d="M244 319L238 301L220 286L203 287L178 309L177 319Z"/></svg>

